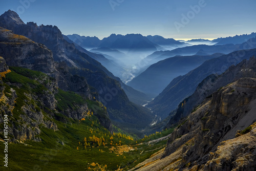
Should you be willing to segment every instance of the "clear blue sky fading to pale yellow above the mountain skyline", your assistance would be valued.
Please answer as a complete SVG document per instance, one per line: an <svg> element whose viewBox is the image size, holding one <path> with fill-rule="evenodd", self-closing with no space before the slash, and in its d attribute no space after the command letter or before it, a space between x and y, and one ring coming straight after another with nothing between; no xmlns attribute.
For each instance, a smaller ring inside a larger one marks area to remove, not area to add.
<svg viewBox="0 0 256 171"><path fill-rule="evenodd" d="M55 25L62 34L139 33L188 40L256 32L255 0L0 0L24 21Z"/></svg>

